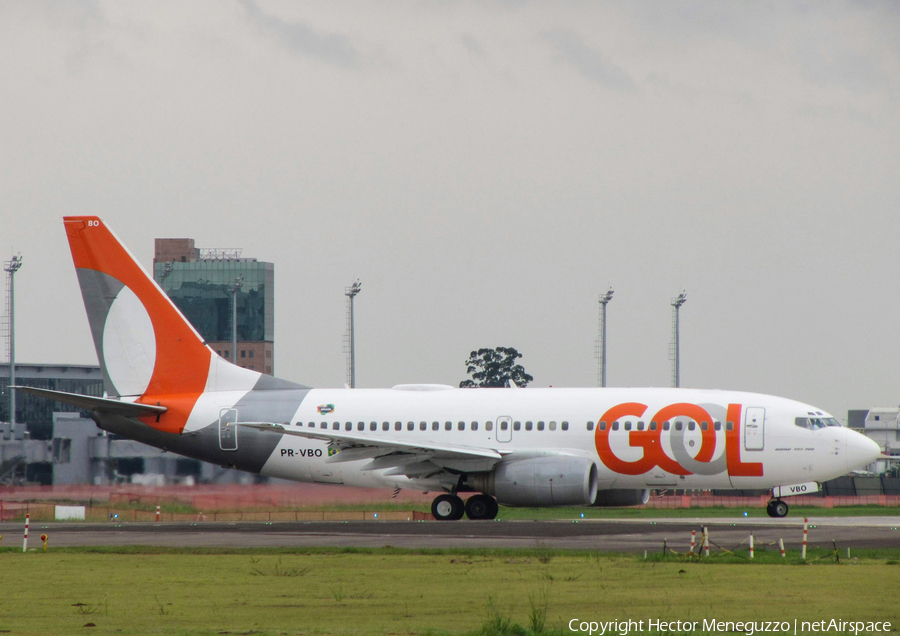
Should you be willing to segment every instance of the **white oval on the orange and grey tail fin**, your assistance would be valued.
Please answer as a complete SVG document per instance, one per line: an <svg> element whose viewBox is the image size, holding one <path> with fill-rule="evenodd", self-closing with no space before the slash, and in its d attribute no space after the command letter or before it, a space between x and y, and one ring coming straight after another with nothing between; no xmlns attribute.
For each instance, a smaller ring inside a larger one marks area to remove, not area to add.
<svg viewBox="0 0 900 636"><path fill-rule="evenodd" d="M139 396L150 385L156 364L156 334L143 303L123 287L103 327L103 364L120 396Z"/></svg>

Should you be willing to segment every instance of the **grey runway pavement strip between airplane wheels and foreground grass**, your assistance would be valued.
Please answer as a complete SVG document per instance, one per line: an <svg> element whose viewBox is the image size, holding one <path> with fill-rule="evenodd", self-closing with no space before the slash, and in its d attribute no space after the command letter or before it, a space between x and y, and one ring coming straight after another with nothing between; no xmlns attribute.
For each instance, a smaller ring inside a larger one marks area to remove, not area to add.
<svg viewBox="0 0 900 636"><path fill-rule="evenodd" d="M31 525L30 547L47 534L51 546L185 547L383 547L398 548L568 548L610 552L686 551L691 530L702 526L710 540L732 549L754 535L758 547L788 549L802 542L803 519L693 518L578 521L316 521L201 523L70 523ZM21 523L0 524L2 546L22 544ZM816 517L809 519L809 545L838 548L900 547L900 517Z"/></svg>

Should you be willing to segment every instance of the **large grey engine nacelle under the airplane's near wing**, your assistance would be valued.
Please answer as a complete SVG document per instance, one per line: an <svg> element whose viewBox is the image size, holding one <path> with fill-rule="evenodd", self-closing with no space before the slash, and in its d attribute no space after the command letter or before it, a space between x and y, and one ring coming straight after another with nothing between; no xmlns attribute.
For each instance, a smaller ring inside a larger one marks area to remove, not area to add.
<svg viewBox="0 0 900 636"><path fill-rule="evenodd" d="M504 506L588 506L597 497L597 466L583 457L520 459L472 475L472 485Z"/></svg>

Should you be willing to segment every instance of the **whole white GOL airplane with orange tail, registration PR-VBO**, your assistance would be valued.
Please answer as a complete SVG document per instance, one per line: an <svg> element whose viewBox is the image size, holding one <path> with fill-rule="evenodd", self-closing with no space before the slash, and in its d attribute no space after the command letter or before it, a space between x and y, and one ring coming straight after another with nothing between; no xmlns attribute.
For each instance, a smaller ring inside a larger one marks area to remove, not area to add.
<svg viewBox="0 0 900 636"><path fill-rule="evenodd" d="M881 456L801 402L676 388L317 389L218 356L96 216L64 225L105 397L19 387L186 457L299 482L437 492L437 520L627 506L655 489L785 497ZM460 496L467 496L464 501Z"/></svg>

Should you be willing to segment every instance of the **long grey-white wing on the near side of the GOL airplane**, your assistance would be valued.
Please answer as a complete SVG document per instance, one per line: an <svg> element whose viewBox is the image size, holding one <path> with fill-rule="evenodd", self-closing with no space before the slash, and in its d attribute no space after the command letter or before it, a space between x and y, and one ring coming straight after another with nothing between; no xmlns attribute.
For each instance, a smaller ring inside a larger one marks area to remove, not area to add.
<svg viewBox="0 0 900 636"><path fill-rule="evenodd" d="M508 451L458 444L406 442L364 432L328 431L266 422L240 422L240 425L328 442L330 449L338 451L326 460L328 462L370 459L368 464L360 467L361 470L390 469L386 475L410 478L431 477L445 470L457 473L490 470L508 454Z"/></svg>

